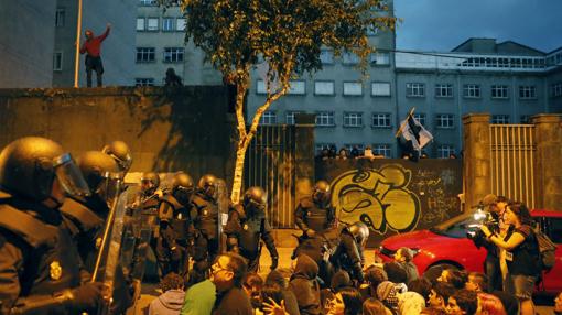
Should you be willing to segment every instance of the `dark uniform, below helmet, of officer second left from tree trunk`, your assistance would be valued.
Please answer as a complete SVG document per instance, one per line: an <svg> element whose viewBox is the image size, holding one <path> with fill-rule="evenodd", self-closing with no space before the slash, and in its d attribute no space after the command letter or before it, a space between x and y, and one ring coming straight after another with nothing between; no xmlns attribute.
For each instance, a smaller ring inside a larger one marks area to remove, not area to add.
<svg viewBox="0 0 562 315"><path fill-rule="evenodd" d="M165 194L160 203L156 258L165 273L185 275L188 272L190 252L193 250L191 208L191 204L181 204L172 194Z"/></svg>

